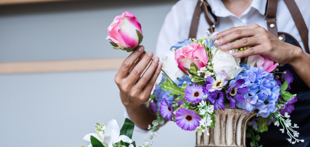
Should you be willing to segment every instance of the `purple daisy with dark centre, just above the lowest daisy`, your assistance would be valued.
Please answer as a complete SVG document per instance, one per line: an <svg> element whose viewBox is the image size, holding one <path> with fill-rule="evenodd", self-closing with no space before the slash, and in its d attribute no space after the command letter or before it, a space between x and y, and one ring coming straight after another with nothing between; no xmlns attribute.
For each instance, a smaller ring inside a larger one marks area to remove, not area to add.
<svg viewBox="0 0 310 147"><path fill-rule="evenodd" d="M203 100L202 95L204 95L204 93L202 92L202 88L203 86L198 86L196 84L187 86L184 95L186 102L193 102L193 104L196 104Z"/></svg>

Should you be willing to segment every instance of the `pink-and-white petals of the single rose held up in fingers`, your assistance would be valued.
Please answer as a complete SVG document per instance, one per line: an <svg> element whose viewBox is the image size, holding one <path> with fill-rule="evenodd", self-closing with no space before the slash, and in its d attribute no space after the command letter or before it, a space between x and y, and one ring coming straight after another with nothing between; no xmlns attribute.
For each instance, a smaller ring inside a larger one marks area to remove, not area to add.
<svg viewBox="0 0 310 147"><path fill-rule="evenodd" d="M141 25L137 18L129 11L125 11L122 15L116 16L114 21L108 27L110 39L119 47L135 48L139 45L139 37L137 31L142 34Z"/></svg>

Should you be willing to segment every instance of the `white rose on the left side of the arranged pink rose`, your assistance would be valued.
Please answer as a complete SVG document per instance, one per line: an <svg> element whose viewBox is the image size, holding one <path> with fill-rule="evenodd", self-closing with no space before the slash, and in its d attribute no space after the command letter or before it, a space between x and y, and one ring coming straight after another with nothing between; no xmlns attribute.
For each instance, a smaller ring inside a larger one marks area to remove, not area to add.
<svg viewBox="0 0 310 147"><path fill-rule="evenodd" d="M162 70L172 80L177 79L177 77L181 78L183 75L186 75L178 68L178 63L174 57L175 52L171 50L162 55Z"/></svg>

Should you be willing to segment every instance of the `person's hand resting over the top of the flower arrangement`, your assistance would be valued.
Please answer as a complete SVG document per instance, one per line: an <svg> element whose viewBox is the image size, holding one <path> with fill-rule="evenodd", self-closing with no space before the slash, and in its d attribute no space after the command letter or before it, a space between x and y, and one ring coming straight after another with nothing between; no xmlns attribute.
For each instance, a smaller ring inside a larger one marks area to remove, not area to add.
<svg viewBox="0 0 310 147"><path fill-rule="evenodd" d="M239 39L239 41L230 43ZM215 46L221 46L222 51L251 47L244 51L233 53L236 58L250 55L266 55L281 64L291 63L302 49L279 40L265 28L257 24L232 27L215 35ZM228 44L230 43L230 44Z"/></svg>

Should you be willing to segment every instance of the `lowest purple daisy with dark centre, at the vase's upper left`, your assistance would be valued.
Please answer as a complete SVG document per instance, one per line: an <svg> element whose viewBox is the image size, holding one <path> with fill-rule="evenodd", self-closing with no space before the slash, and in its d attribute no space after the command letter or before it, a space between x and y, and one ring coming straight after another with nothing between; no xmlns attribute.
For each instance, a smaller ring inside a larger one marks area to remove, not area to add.
<svg viewBox="0 0 310 147"><path fill-rule="evenodd" d="M193 131L199 126L201 118L194 111L180 107L176 112L176 123L183 130Z"/></svg>

